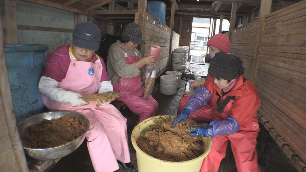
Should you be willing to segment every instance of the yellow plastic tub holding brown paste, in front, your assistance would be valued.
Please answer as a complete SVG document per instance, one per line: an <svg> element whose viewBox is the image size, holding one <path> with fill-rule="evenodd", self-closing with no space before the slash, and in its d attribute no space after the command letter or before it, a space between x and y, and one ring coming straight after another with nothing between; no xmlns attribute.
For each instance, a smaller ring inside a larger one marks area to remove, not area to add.
<svg viewBox="0 0 306 172"><path fill-rule="evenodd" d="M163 115L163 116L155 116L148 118L142 122L140 122L132 131L132 144L136 150L136 158L137 158L137 166L138 172L199 172L203 159L208 155L209 151L211 150L211 137L203 137L204 142L204 150L206 150L202 155L199 157L189 160L189 161L182 161L182 162L165 162L160 159L156 159L144 151L142 151L136 141L140 136L140 133L143 131L147 131L151 129L150 125L154 125L155 123L153 120L162 120L163 118L169 117L170 115ZM174 116L171 116L174 118Z"/></svg>

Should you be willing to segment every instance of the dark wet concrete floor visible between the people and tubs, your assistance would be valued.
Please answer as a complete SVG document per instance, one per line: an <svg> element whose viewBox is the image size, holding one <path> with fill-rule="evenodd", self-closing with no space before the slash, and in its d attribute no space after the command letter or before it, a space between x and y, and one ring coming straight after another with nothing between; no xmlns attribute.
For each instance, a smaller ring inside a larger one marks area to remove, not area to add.
<svg viewBox="0 0 306 172"><path fill-rule="evenodd" d="M203 68L205 65L196 66L198 68ZM207 67L207 66L205 66ZM188 87L187 87L188 88ZM159 80L155 81L155 87L153 90L153 97L159 103L158 114L165 115L176 115L178 103L181 99L181 94L185 91L185 81L182 80L181 88L178 89L176 95L163 95L159 92ZM136 153L131 143L131 133L135 126L136 119L138 118L134 115L128 108L121 109L121 113L128 119L128 136L129 136L129 148L131 154L131 162L134 165L133 171L137 170ZM265 148L265 144L268 138L267 131L261 126L259 136L257 138L256 150L258 153L258 159L260 159L261 154ZM229 150L229 148L228 148ZM103 152L101 152L103 153ZM284 155L284 153L279 149L278 145L272 141L270 145L270 150L266 159L266 166L260 167L262 172L295 172L297 171L293 165L291 165L289 159ZM51 170L50 172L93 172L94 169L91 164L91 159L88 154L86 139L83 144L72 154L62 158ZM116 172L124 172L121 167ZM219 172L235 172L236 164L234 158L231 156L230 152L226 153L226 157L222 160Z"/></svg>

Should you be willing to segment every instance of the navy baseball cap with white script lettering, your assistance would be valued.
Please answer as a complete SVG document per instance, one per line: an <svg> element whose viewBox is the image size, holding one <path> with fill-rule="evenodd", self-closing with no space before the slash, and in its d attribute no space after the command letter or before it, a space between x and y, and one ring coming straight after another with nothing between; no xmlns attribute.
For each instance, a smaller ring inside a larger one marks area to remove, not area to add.
<svg viewBox="0 0 306 172"><path fill-rule="evenodd" d="M72 34L72 44L88 50L99 50L101 31L92 22L82 22L76 25Z"/></svg>

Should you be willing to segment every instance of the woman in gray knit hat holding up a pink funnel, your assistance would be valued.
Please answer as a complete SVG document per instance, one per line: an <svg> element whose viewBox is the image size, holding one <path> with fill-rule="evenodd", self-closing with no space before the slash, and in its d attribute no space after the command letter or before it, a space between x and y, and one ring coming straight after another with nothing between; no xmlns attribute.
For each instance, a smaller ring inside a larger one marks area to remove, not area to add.
<svg viewBox="0 0 306 172"><path fill-rule="evenodd" d="M141 73L146 73L146 65L154 65L158 61L157 55L141 56L136 47L143 43L141 28L136 23L129 23L122 31L121 41L110 46L107 56L107 75L114 92L122 93L117 100L139 116L137 124L155 116L158 109L158 103L151 95L143 98Z"/></svg>

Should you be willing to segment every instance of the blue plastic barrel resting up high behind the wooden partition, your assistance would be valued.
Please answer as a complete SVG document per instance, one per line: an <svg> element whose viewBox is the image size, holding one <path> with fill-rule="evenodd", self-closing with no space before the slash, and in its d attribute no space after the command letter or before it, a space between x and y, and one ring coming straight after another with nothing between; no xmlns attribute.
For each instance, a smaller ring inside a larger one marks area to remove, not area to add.
<svg viewBox="0 0 306 172"><path fill-rule="evenodd" d="M166 3L160 1L148 1L147 13L159 19L162 23L166 24Z"/></svg>

